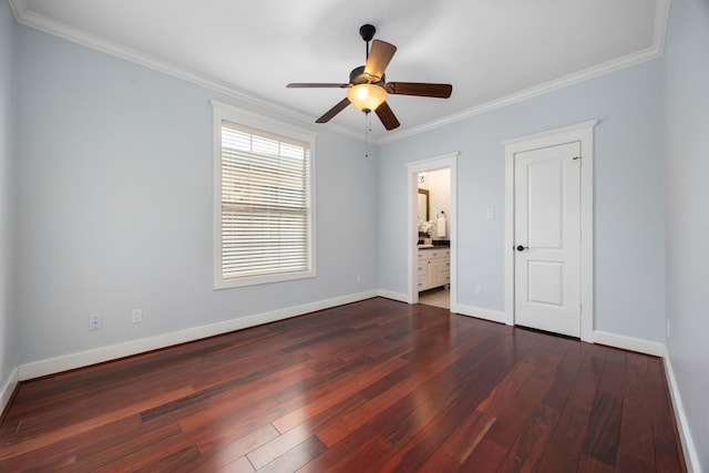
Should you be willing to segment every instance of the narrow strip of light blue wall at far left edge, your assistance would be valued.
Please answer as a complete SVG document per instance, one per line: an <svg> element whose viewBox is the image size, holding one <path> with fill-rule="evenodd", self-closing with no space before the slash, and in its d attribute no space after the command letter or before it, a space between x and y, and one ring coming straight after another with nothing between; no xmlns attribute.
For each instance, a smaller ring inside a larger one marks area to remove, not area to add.
<svg viewBox="0 0 709 473"><path fill-rule="evenodd" d="M8 2L0 2L0 390L10 380L17 366L12 247L16 162L14 56L14 19Z"/></svg>

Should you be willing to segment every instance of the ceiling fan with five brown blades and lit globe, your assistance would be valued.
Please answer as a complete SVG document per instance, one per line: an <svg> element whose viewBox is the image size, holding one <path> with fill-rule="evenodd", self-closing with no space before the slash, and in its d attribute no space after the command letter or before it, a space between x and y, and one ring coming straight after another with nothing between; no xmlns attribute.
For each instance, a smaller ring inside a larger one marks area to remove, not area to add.
<svg viewBox="0 0 709 473"><path fill-rule="evenodd" d="M374 37L377 29L371 24L364 24L359 29L359 34L367 42L367 63L354 68L350 72L350 81L341 83L290 83L289 89L306 88L339 88L349 89L347 96L337 105L328 110L316 123L327 123L340 113L350 103L364 113L374 112L387 130L393 130L400 125L399 120L387 104L387 94L418 95L436 99L451 96L451 84L430 84L425 82L387 82L384 70L389 61L397 52L397 47L386 41L374 40L371 50L369 42Z"/></svg>

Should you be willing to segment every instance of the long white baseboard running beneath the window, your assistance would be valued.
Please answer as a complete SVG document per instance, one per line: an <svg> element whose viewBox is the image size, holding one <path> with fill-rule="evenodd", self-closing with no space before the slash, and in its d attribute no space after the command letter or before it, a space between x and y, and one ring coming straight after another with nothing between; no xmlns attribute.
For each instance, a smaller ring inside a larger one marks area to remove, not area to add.
<svg viewBox="0 0 709 473"><path fill-rule="evenodd" d="M151 350L157 350L174 345L199 340L202 338L228 333L234 330L240 330L249 327L260 326L264 323L275 322L291 317L301 316L304 313L314 312L316 310L322 310L336 306L342 306L345 304L357 302L358 300L370 299L372 297L377 297L378 295L379 294L377 290L371 290L342 297L336 297L332 299L319 300L301 306L287 307L285 309L274 310L270 312L256 313L253 316L242 317L224 322L212 323L208 326L194 327L172 333L143 338L140 340L132 340L125 343L101 347L94 350L86 350L78 353L70 353L45 360L33 361L31 363L21 364L17 370L18 376L16 378L21 381L40 378L61 371L73 370L76 368L88 367L90 364L102 363L104 361L116 360L119 358L130 357Z"/></svg>

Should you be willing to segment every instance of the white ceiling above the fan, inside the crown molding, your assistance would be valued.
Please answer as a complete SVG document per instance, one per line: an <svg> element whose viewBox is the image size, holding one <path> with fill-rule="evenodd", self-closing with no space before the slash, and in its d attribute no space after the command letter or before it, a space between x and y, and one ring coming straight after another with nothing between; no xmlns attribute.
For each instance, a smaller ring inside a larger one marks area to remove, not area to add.
<svg viewBox="0 0 709 473"><path fill-rule="evenodd" d="M315 121L364 63L359 27L398 51L388 81L453 84L390 95L386 142L661 54L670 0L10 0L19 22L291 116ZM360 136L361 112L329 126Z"/></svg>

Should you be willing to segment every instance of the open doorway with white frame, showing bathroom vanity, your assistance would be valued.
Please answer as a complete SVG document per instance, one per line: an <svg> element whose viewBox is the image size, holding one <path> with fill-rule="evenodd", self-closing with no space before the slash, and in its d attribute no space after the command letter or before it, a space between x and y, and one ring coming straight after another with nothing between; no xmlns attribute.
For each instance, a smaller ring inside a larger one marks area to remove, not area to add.
<svg viewBox="0 0 709 473"><path fill-rule="evenodd" d="M456 311L458 153L408 165L409 301Z"/></svg>

